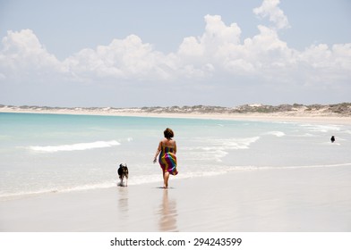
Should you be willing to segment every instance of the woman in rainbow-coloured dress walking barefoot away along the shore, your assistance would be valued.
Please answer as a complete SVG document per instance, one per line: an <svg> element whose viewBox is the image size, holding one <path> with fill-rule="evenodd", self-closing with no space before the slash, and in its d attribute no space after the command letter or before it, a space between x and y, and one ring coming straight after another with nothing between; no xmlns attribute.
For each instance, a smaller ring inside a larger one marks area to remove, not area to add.
<svg viewBox="0 0 351 250"><path fill-rule="evenodd" d="M169 175L176 175L176 143L173 137L175 136L172 129L166 129L164 132L164 138L158 144L158 150L156 151L154 163L158 162L162 169L164 188L168 187Z"/></svg>

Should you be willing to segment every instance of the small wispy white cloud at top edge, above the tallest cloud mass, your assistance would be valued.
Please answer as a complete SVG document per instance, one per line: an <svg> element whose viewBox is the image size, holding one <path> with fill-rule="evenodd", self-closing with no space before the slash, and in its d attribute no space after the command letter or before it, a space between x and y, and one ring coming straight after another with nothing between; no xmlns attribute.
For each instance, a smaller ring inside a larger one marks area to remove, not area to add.
<svg viewBox="0 0 351 250"><path fill-rule="evenodd" d="M289 23L278 4L280 4L279 0L264 0L260 7L253 9L253 12L261 17L269 17L278 29L284 29L289 27Z"/></svg>

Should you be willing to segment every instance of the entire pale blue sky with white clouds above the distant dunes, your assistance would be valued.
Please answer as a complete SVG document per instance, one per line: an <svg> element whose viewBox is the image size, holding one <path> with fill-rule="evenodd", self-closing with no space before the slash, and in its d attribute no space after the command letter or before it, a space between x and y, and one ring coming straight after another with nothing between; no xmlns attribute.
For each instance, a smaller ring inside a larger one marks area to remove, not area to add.
<svg viewBox="0 0 351 250"><path fill-rule="evenodd" d="M0 104L333 104L351 1L0 0Z"/></svg>

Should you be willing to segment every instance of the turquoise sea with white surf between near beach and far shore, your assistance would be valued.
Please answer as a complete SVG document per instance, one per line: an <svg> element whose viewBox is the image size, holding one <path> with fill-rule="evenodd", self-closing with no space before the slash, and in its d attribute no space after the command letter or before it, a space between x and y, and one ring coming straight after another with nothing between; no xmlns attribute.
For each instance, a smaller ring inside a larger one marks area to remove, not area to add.
<svg viewBox="0 0 351 250"><path fill-rule="evenodd" d="M175 179L351 168L351 124L0 113L0 200L116 187L121 162L129 185L161 185L152 160L167 127L178 146Z"/></svg>

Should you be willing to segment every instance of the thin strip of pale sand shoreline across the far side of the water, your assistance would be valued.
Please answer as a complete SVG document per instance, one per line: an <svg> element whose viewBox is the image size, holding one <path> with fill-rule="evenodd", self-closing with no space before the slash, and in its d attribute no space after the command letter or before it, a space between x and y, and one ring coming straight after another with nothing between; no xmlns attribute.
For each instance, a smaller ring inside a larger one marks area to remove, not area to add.
<svg viewBox="0 0 351 250"><path fill-rule="evenodd" d="M272 113L223 113L223 112L142 112L141 109L23 109L0 107L0 112L13 113L42 113L42 114L68 114L68 115L101 115L101 116L131 116L151 118L183 118L206 120L232 120L232 121L282 121L282 122L312 122L351 124L350 116L338 116L332 113L320 112L272 112Z"/></svg>

